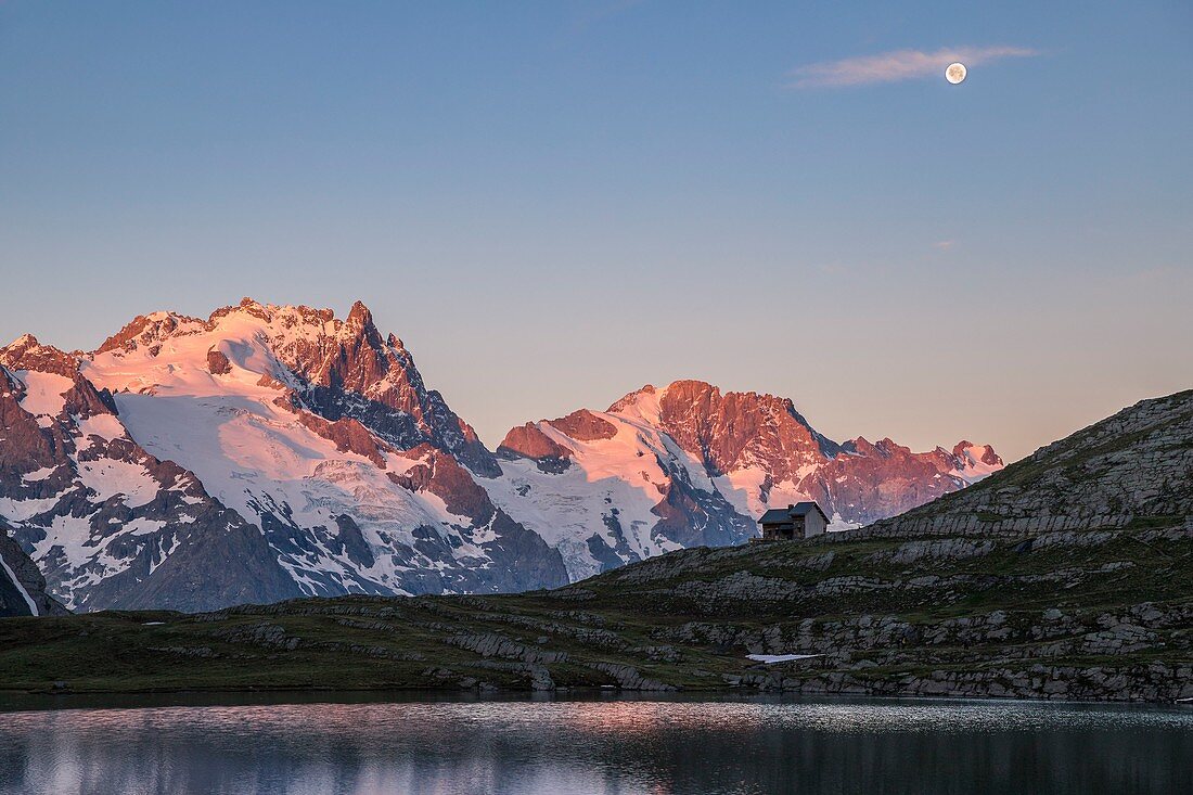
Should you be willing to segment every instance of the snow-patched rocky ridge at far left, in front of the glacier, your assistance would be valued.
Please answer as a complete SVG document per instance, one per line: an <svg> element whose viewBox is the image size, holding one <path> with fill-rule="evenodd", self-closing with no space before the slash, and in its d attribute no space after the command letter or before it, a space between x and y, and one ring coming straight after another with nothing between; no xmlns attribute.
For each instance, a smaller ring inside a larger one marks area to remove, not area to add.
<svg viewBox="0 0 1193 795"><path fill-rule="evenodd" d="M202 610L302 593L259 532L132 440L78 357L24 337L0 365L0 517L67 605Z"/></svg>

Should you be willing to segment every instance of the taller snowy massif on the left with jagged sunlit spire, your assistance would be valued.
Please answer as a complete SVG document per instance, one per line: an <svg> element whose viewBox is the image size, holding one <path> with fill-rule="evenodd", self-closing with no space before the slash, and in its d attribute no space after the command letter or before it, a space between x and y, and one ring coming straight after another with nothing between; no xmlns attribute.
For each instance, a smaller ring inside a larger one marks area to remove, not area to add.
<svg viewBox="0 0 1193 795"><path fill-rule="evenodd" d="M363 304L156 313L92 353L23 338L0 363L0 516L73 608L567 581Z"/></svg>

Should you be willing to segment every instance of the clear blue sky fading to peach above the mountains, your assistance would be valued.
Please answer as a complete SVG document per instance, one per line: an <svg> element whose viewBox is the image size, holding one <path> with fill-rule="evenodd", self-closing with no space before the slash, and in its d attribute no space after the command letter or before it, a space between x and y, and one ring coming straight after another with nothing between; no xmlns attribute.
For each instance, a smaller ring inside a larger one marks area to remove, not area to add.
<svg viewBox="0 0 1193 795"><path fill-rule="evenodd" d="M1193 5L842 6L0 0L0 339L360 298L490 445L691 377L1012 461L1193 387Z"/></svg>

